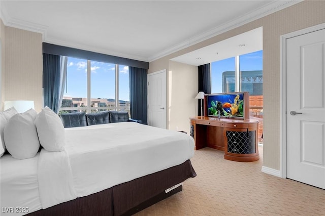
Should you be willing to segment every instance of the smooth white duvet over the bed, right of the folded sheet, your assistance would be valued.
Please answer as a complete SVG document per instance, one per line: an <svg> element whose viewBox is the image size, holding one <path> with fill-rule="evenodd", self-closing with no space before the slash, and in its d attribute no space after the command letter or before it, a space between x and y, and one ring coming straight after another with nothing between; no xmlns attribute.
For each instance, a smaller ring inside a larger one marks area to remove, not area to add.
<svg viewBox="0 0 325 216"><path fill-rule="evenodd" d="M179 165L194 154L184 134L135 122L66 129L78 197Z"/></svg>

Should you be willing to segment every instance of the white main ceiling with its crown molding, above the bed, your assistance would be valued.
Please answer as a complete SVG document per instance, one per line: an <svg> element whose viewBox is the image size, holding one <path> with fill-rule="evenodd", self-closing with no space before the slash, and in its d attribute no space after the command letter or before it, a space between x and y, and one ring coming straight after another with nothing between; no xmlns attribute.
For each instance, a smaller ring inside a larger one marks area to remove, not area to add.
<svg viewBox="0 0 325 216"><path fill-rule="evenodd" d="M150 62L299 2L0 0L0 7L6 26L42 33L44 42ZM247 49L253 33L228 42ZM196 58L209 50L224 55L222 46L173 60L200 65Z"/></svg>

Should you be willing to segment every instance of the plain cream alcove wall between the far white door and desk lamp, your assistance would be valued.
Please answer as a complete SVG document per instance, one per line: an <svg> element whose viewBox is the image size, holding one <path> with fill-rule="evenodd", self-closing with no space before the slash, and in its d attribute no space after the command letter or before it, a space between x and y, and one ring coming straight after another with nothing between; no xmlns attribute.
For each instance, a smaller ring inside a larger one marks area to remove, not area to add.
<svg viewBox="0 0 325 216"><path fill-rule="evenodd" d="M189 117L198 115L198 67L169 62L168 128L189 134Z"/></svg>

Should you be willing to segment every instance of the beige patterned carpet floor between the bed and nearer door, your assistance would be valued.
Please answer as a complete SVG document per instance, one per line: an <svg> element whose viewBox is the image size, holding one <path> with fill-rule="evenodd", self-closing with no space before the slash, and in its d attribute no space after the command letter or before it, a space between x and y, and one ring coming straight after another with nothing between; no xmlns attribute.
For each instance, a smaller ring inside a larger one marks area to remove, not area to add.
<svg viewBox="0 0 325 216"><path fill-rule="evenodd" d="M261 159L236 162L204 148L191 158L196 178L183 191L135 215L325 215L325 190L261 171Z"/></svg>

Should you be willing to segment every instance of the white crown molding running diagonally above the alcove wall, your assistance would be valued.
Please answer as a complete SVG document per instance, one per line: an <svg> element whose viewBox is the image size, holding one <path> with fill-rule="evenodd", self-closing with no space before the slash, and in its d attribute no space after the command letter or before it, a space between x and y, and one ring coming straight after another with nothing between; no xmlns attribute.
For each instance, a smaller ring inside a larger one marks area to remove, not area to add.
<svg viewBox="0 0 325 216"><path fill-rule="evenodd" d="M239 18L236 18L234 20L231 20L221 26L215 27L213 29L210 29L206 32L203 32L199 35L196 35L192 38L188 38L188 40L181 42L178 45L175 45L169 49L166 49L162 52L159 52L148 59L149 62L152 62L154 60L157 60L159 58L163 58L169 54L175 53L177 51L180 51L182 49L188 48L192 45L198 44L199 42L202 42L204 40L207 40L209 38L212 38L214 36L217 36L219 34L222 34L224 32L230 31L234 28L237 28L239 26L242 26L244 24L247 24L249 22L252 22L254 20L257 20L259 18L265 17L267 15L273 14L277 11L280 11L284 8L293 6L295 4L298 4L304 0L289 0L289 1L273 1L270 4L263 6L257 10L255 10L252 13L245 14Z"/></svg>

